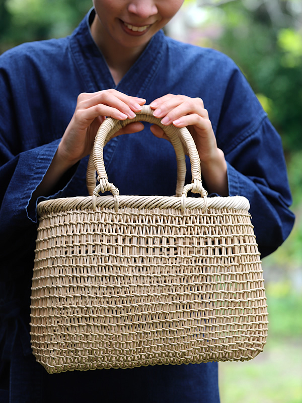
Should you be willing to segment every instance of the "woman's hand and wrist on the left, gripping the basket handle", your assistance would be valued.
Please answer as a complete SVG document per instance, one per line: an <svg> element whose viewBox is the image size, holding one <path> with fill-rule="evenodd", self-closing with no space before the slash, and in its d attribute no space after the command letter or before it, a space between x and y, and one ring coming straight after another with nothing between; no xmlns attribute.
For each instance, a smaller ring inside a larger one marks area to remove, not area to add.
<svg viewBox="0 0 302 403"><path fill-rule="evenodd" d="M130 97L114 89L82 93L78 97L74 114L64 132L57 150L57 161L64 169L90 154L97 130L105 117L119 120L134 118L145 99ZM117 135L134 133L143 129L140 122L130 123Z"/></svg>

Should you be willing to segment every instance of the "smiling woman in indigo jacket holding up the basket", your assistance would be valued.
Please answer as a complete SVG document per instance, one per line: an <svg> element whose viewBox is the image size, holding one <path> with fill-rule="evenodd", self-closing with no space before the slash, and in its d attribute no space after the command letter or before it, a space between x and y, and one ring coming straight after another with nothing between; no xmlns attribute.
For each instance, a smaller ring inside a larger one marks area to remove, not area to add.
<svg viewBox="0 0 302 403"><path fill-rule="evenodd" d="M215 362L49 375L29 337L37 204L88 195L88 155L108 116L134 119L146 103L162 125L187 126L209 196L249 199L262 256L292 228L280 138L240 69L220 52L162 31L182 3L95 0L70 36L24 43L0 56L2 403L219 402ZM149 130L130 122L108 142L104 163L121 194L175 193L175 152L162 138L159 125ZM81 262L73 268L75 278L83 274Z"/></svg>

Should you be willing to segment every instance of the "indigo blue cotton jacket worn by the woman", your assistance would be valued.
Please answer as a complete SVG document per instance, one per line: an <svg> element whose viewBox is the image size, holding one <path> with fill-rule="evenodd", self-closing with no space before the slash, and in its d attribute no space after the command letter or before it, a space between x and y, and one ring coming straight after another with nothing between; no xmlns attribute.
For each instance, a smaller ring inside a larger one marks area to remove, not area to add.
<svg viewBox="0 0 302 403"><path fill-rule="evenodd" d="M218 51L180 43L159 32L116 86L92 39L93 17L94 11L67 38L23 44L0 57L0 270L5 284L0 297L0 353L4 359L14 357L18 343L30 354L28 307L37 217L29 201L82 92L115 88L145 98L147 104L167 93L202 98L228 163L229 194L250 200L262 256L274 251L293 225L280 137L238 66ZM147 124L143 132L112 139L104 156L109 181L120 194L175 193L174 150L169 142L155 138ZM87 158L69 170L54 194L38 201L87 195L86 167ZM202 377L205 370L200 371ZM188 379L194 376L189 373ZM210 384L205 379L204 384ZM177 398L171 401L203 401ZM207 397L206 401L218 400Z"/></svg>

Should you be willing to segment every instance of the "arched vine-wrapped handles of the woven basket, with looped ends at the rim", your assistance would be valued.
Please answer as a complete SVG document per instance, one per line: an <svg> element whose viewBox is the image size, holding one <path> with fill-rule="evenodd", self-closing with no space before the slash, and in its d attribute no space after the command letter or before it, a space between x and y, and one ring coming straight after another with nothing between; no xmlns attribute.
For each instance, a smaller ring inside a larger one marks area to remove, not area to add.
<svg viewBox="0 0 302 403"><path fill-rule="evenodd" d="M160 126L166 135L169 137L176 154L177 160L177 185L176 185L176 196L182 197L181 209L185 209L185 198L187 192L191 190L193 193L200 193L201 196L206 197L207 192L202 186L201 182L201 168L199 155L192 139L189 130L184 128L175 127L173 124L164 126L161 123L161 119L153 116L153 110L148 105L143 105L142 110L136 114L133 119L118 120L108 117L104 120L98 129L93 151L90 155L86 183L90 195L93 195L93 209L96 209L96 197L101 191L104 193L109 190L115 200L115 210L118 210L118 195L119 190L114 186L113 183L109 183L108 176L105 170L103 149L108 141L115 135L115 133L122 127L129 123L137 121L146 121L149 123L154 123ZM192 183L184 186L186 177L186 160L184 146L188 150L189 158L191 161L191 171L192 171ZM100 182L96 186L96 171L98 174L98 181Z"/></svg>

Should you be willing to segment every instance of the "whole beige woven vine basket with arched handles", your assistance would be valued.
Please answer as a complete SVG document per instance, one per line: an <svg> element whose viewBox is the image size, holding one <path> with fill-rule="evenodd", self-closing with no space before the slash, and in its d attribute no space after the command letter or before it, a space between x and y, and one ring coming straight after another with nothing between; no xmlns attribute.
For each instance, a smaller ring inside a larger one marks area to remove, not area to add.
<svg viewBox="0 0 302 403"><path fill-rule="evenodd" d="M161 126L148 106L135 119ZM268 322L248 200L207 197L194 141L173 125L161 127L176 152L176 195L119 195L103 147L128 122L101 125L87 171L91 196L38 205L37 361L57 373L254 358ZM184 148L192 169L185 186ZM113 196L99 195L106 190Z"/></svg>

